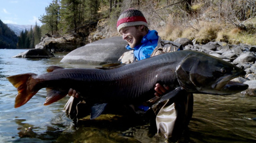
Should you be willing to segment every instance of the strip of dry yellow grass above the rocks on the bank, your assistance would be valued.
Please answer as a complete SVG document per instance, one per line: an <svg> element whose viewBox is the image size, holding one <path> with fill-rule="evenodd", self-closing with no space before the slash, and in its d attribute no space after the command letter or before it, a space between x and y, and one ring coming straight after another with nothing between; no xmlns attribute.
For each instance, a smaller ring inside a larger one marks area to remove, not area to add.
<svg viewBox="0 0 256 143"><path fill-rule="evenodd" d="M247 27L246 30L226 23L199 21L190 25L177 24L181 22L168 22L165 27L158 31L162 39L165 40L173 41L184 37L190 40L196 39L200 43L220 41L235 45L240 43L256 45L256 22L254 21L256 18L244 24Z"/></svg>

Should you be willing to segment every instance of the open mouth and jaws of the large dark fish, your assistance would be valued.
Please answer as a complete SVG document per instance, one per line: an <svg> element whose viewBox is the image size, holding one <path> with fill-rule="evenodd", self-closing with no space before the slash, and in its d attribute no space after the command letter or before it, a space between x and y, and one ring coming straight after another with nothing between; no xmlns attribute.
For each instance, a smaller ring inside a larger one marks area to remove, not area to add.
<svg viewBox="0 0 256 143"><path fill-rule="evenodd" d="M236 77L241 77L242 74L235 74L235 75L227 75L221 78L217 84L215 85L215 89L217 91L222 92L221 95L229 95L229 94L236 94L238 92L244 91L248 88L247 84L239 83L230 81L235 79Z"/></svg>

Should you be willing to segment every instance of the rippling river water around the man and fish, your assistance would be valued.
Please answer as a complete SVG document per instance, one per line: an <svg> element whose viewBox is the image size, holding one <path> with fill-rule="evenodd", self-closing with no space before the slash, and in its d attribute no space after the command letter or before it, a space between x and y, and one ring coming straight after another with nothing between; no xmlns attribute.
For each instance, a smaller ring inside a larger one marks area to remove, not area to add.
<svg viewBox="0 0 256 143"><path fill-rule="evenodd" d="M0 142L166 142L149 133L149 124L136 117L103 115L78 123L62 112L69 97L43 106L46 90L14 108L17 90L6 77L21 73L44 74L49 66L94 68L95 66L60 63L66 54L49 59L11 58L26 50L0 49ZM243 94L194 95L194 114L188 136L195 143L255 143L256 98ZM118 108L118 107L117 107Z"/></svg>

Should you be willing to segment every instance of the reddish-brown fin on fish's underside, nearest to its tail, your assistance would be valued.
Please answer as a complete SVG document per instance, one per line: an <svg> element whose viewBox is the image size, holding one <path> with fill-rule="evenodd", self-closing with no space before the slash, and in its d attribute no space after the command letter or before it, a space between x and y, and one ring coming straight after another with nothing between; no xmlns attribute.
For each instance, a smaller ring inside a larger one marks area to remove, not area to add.
<svg viewBox="0 0 256 143"><path fill-rule="evenodd" d="M65 97L69 91L61 91L60 89L46 88L47 96L44 105L52 104Z"/></svg>

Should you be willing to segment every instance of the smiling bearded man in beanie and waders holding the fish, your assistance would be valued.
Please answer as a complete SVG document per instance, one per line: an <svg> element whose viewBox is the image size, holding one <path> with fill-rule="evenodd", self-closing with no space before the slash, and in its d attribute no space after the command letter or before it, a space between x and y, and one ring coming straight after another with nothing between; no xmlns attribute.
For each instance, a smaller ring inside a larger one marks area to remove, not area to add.
<svg viewBox="0 0 256 143"><path fill-rule="evenodd" d="M121 13L117 21L117 31L122 34L123 39L128 42L126 49L131 49L131 51L125 52L119 59L125 64L166 52L183 50L182 45L161 40L157 31L148 30L148 24L144 15L136 9L127 9ZM169 89L168 86L162 86L159 83L155 85L156 96L163 95L169 90L173 89ZM70 89L69 95L79 98L78 93L73 89ZM170 137L177 140L182 135L192 116L193 95L178 95L175 101L165 101L164 103L152 107L152 109L143 105L137 106L136 108L144 112L153 110L156 115L154 118L156 118L155 121L158 133L166 138Z"/></svg>

